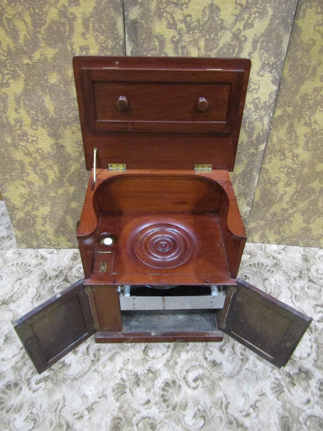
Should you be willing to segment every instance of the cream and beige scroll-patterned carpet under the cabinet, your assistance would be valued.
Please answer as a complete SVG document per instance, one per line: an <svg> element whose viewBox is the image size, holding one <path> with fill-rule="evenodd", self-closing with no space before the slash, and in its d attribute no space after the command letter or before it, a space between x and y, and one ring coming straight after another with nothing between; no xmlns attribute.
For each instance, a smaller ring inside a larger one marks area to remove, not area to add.
<svg viewBox="0 0 323 431"><path fill-rule="evenodd" d="M96 344L38 375L10 321L82 277L78 250L18 249L0 202L1 430L322 430L323 250L248 243L239 276L314 320L283 369L222 343Z"/></svg>

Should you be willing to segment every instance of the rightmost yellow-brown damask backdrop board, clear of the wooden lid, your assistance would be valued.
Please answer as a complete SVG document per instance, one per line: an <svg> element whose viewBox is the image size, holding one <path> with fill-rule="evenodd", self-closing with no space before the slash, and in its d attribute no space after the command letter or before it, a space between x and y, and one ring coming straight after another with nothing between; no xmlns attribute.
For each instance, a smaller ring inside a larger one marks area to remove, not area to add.
<svg viewBox="0 0 323 431"><path fill-rule="evenodd" d="M299 0L248 240L323 247L323 4Z"/></svg>

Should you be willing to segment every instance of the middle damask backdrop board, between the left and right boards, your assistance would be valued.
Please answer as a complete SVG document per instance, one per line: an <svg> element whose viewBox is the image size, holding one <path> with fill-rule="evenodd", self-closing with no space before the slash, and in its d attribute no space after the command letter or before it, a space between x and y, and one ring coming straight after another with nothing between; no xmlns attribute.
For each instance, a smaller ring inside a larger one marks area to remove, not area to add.
<svg viewBox="0 0 323 431"><path fill-rule="evenodd" d="M230 174L245 222L252 206L296 3L297 0L125 2L127 55L252 60L236 166Z"/></svg>

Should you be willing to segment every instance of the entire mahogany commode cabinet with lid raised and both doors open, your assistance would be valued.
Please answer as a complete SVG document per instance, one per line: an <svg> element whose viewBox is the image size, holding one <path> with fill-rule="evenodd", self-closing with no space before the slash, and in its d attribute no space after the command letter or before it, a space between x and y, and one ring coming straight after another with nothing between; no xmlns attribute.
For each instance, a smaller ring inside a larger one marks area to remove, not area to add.
<svg viewBox="0 0 323 431"><path fill-rule="evenodd" d="M84 279L13 325L38 372L98 343L221 341L284 366L311 318L237 278L248 59L76 56ZM264 319L265 317L265 319Z"/></svg>

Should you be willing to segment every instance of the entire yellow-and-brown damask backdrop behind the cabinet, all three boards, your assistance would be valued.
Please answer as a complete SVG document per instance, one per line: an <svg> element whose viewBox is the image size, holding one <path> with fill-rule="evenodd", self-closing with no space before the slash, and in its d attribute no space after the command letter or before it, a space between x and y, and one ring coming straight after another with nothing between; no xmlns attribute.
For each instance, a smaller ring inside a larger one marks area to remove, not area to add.
<svg viewBox="0 0 323 431"><path fill-rule="evenodd" d="M124 11L122 0L3 0L0 187L19 246L76 246L74 225L87 172L71 67L75 54L251 58L231 174L247 225L296 3L127 0ZM317 239L322 11L319 0L299 3L247 232L255 241L315 245L322 244ZM287 116L294 117L284 121Z"/></svg>

